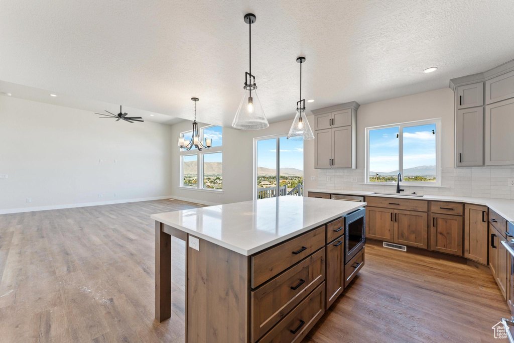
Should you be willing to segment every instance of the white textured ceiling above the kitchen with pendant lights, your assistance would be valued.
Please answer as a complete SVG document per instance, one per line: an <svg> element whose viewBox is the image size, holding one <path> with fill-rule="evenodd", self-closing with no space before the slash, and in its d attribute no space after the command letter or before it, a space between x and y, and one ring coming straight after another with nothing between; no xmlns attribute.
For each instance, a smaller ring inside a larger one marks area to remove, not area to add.
<svg viewBox="0 0 514 343"><path fill-rule="evenodd" d="M300 55L310 110L446 87L514 58L511 0L3 0L0 80L187 119L196 96L200 121L230 125L246 12L270 122L293 117Z"/></svg>

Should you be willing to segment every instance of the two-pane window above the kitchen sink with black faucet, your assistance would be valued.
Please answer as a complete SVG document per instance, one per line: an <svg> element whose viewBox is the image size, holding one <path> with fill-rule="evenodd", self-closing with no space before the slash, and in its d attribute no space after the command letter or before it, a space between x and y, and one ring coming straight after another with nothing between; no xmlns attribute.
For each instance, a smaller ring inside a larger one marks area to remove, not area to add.
<svg viewBox="0 0 514 343"><path fill-rule="evenodd" d="M366 128L368 183L440 185L440 119Z"/></svg>

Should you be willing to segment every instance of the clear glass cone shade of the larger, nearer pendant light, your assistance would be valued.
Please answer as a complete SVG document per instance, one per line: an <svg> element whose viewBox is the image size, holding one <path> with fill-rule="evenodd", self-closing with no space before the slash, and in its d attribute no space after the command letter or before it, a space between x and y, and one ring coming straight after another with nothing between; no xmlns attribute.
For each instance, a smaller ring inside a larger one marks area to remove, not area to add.
<svg viewBox="0 0 514 343"><path fill-rule="evenodd" d="M251 94L250 94L251 93ZM241 130L260 130L269 127L268 120L255 90L245 89L243 99L235 114L232 127Z"/></svg>

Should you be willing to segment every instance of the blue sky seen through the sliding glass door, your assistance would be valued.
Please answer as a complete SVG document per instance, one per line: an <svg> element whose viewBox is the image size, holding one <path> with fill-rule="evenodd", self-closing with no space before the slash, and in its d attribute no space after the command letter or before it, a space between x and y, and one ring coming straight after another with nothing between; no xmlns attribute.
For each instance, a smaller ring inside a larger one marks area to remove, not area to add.
<svg viewBox="0 0 514 343"><path fill-rule="evenodd" d="M257 166L277 168L276 138L257 141ZM303 141L280 137L280 168L303 170Z"/></svg>

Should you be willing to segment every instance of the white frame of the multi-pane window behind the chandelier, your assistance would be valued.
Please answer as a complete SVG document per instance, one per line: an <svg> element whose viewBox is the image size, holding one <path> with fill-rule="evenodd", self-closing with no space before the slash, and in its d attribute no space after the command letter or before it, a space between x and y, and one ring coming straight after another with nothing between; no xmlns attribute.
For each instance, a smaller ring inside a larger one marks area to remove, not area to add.
<svg viewBox="0 0 514 343"><path fill-rule="evenodd" d="M223 127L221 125L206 125L205 127L199 128L200 141L204 141L204 130L212 127L220 127L222 129L222 145L218 147L212 147L209 149L203 149L199 151L198 149L191 150L182 150L178 147L179 161L180 161L180 170L179 170L179 184L178 187L180 189L189 189L193 191L202 191L202 192L216 192L223 193L222 189L213 189L213 188L204 188L204 154L212 154L216 152L222 153L222 183L223 183L223 174L224 174L224 165L223 165ZM192 130L187 130L180 132L179 137L183 137L185 133L191 132ZM196 155L196 187L186 187L183 185L183 156L191 156ZM200 182L201 181L201 182ZM223 187L223 184L222 184Z"/></svg>

